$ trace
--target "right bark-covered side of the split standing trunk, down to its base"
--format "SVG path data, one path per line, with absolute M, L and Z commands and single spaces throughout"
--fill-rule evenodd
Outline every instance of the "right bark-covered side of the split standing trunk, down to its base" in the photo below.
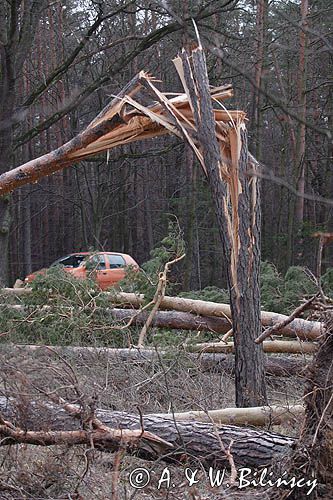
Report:
M 239 180 L 242 194 L 238 203 L 240 248 L 237 284 L 229 278 L 230 306 L 235 339 L 236 406 L 258 406 L 267 402 L 264 355 L 254 339 L 261 332 L 260 321 L 260 190 L 257 179 L 247 175 L 247 134 L 242 131 Z M 222 227 L 220 232 L 223 231 Z M 225 231 L 224 233 L 225 234 Z

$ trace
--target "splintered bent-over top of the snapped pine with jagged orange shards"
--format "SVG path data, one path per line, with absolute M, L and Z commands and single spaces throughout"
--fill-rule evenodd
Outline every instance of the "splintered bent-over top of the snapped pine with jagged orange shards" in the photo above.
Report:
M 180 71 L 179 60 L 176 59 L 174 63 Z M 180 77 L 183 81 L 181 74 Z M 138 73 L 76 137 L 58 149 L 0 175 L 0 196 L 98 153 L 166 134 L 187 139 L 204 167 L 200 146 L 195 138 L 193 104 L 186 86 L 184 93 L 170 94 L 161 92 L 155 83 L 151 75 L 144 71 Z M 139 91 L 151 99 L 148 106 L 135 98 Z M 210 95 L 216 108 L 216 136 L 221 144 L 221 152 L 225 157 L 232 158 L 235 124 L 244 123 L 245 113 L 227 110 L 223 105 L 223 101 L 233 95 L 231 85 L 212 87 Z

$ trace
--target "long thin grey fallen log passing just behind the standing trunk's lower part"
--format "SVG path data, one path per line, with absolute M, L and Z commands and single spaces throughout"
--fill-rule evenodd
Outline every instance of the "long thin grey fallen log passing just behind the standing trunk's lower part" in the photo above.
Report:
M 8 352 L 9 355 L 12 354 L 13 350 L 18 351 L 18 353 L 40 353 L 47 355 L 68 355 L 68 356 L 79 356 L 80 358 L 87 359 L 91 363 L 91 359 L 96 356 L 97 358 L 106 357 L 109 362 L 120 363 L 120 362 L 134 362 L 134 363 L 148 363 L 148 362 L 160 362 L 161 360 L 167 360 L 171 357 L 172 360 L 175 358 L 174 350 L 160 350 L 160 349 L 137 349 L 137 348 L 108 348 L 108 347 L 83 347 L 83 346 L 45 346 L 45 345 L 26 345 L 26 344 L 1 344 L 2 354 Z M 5 351 L 6 350 L 6 351 Z M 179 350 L 177 351 L 180 352 Z M 199 369 L 203 372 L 213 372 L 213 373 L 226 373 L 229 375 L 234 375 L 235 360 L 234 356 L 231 354 L 223 353 L 186 353 L 188 361 L 193 364 L 193 369 Z M 291 377 L 291 376 L 303 376 L 307 368 L 307 363 L 304 360 L 299 360 L 295 358 L 288 357 L 265 357 L 265 371 L 266 375 L 275 377 Z

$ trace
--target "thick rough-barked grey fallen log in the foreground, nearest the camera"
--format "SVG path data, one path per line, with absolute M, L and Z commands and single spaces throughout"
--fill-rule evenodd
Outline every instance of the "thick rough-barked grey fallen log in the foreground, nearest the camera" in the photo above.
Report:
M 20 404 L 15 404 L 12 399 L 0 397 L 0 412 L 2 416 L 15 424 L 15 415 L 19 411 Z M 214 423 L 175 420 L 172 415 L 150 414 L 141 417 L 124 412 L 114 412 L 106 409 L 96 410 L 97 419 L 112 430 L 133 431 L 142 429 L 167 443 L 165 453 L 159 458 L 165 461 L 193 462 L 200 461 L 204 466 L 228 466 L 228 458 L 224 452 L 229 445 L 236 466 L 258 467 L 271 463 L 273 459 L 279 459 L 291 452 L 295 440 L 280 434 L 258 431 L 250 428 L 241 428 L 233 425 L 219 426 Z M 22 422 L 22 416 L 17 415 L 18 421 Z M 22 426 L 22 423 L 21 423 Z M 29 432 L 44 432 L 39 434 L 39 442 L 32 444 L 51 445 L 52 440 L 47 441 L 50 432 L 80 431 L 80 424 L 63 408 L 51 403 L 41 401 L 30 401 L 28 407 L 24 404 L 24 428 Z M 3 435 L 0 445 L 20 442 L 19 436 L 8 439 Z M 59 434 L 57 444 L 61 443 Z M 75 436 L 75 435 L 74 435 Z M 77 437 L 77 436 L 76 436 Z M 81 436 L 82 437 L 82 436 Z M 92 436 L 93 438 L 94 436 Z M 77 437 L 79 439 L 79 437 Z M 66 439 L 64 439 L 66 444 Z M 83 442 L 83 440 L 81 440 Z M 69 444 L 77 444 L 73 441 Z M 166 445 L 164 444 L 166 447 Z M 99 439 L 96 447 L 104 451 L 114 451 L 115 443 L 109 444 L 108 439 Z M 140 443 L 132 451 L 142 458 L 154 457 L 155 450 L 152 448 L 147 457 L 147 442 L 142 449 Z

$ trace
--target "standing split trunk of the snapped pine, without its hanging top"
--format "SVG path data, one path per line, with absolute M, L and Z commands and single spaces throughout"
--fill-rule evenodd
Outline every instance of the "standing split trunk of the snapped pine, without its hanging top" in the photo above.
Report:
M 230 157 L 216 137 L 204 52 L 182 54 L 204 165 L 215 206 L 230 290 L 235 339 L 236 405 L 260 406 L 266 399 L 264 356 L 254 344 L 260 323 L 260 199 L 256 177 L 247 174 L 248 148 L 244 123 L 230 124 Z M 239 150 L 240 148 L 240 150 Z

